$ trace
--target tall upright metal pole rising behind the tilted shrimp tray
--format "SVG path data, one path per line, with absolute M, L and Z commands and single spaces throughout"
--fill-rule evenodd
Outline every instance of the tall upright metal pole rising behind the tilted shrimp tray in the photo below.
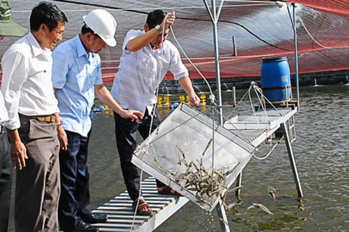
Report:
M 217 105 L 219 110 L 218 122 L 223 123 L 223 110 L 222 106 L 222 93 L 220 88 L 220 68 L 219 68 L 219 49 L 218 49 L 218 28 L 217 28 L 217 14 L 216 14 L 216 1 L 212 0 L 212 17 L 213 17 L 213 42 L 214 42 L 214 62 L 216 68 L 216 83 L 217 83 Z

